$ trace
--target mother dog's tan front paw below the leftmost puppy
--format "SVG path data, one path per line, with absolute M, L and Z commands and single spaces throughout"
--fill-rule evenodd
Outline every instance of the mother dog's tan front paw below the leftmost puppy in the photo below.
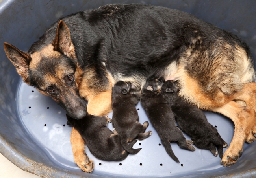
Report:
M 91 173 L 94 168 L 93 160 L 90 160 L 86 153 L 83 155 L 74 155 L 76 159 L 74 159 L 76 165 L 84 172 Z

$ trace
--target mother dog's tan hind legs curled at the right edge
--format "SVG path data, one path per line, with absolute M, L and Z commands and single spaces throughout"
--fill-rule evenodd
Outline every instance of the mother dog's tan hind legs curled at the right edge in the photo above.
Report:
M 256 139 L 252 134 L 255 111 L 239 105 L 235 101 L 230 101 L 224 106 L 211 110 L 229 117 L 235 124 L 233 139 L 221 160 L 221 164 L 224 166 L 232 166 L 242 155 L 244 141 L 247 139 L 249 139 L 247 141 L 254 141 Z

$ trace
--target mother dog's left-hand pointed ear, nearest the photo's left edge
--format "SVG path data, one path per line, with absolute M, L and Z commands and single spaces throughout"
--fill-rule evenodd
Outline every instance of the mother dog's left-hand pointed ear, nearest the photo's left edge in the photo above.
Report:
M 7 57 L 15 66 L 17 73 L 22 77 L 23 81 L 30 85 L 28 79 L 28 66 L 31 61 L 29 53 L 20 51 L 15 46 L 4 42 L 4 51 L 6 52 Z

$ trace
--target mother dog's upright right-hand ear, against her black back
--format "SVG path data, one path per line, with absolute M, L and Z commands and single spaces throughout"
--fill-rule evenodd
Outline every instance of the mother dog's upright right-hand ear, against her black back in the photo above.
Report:
M 71 40 L 69 28 L 62 20 L 59 21 L 52 45 L 54 46 L 54 51 L 62 52 L 67 57 L 76 59 L 75 47 Z

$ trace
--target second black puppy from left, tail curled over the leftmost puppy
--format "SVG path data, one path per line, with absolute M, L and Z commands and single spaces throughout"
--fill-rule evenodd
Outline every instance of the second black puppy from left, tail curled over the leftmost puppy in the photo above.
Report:
M 139 123 L 139 116 L 135 104 L 139 102 L 139 92 L 133 93 L 130 82 L 118 81 L 112 88 L 112 124 L 119 136 L 124 149 L 132 154 L 141 150 L 133 149 L 128 142 L 134 139 L 148 138 L 152 131 L 145 133 L 148 121 Z

